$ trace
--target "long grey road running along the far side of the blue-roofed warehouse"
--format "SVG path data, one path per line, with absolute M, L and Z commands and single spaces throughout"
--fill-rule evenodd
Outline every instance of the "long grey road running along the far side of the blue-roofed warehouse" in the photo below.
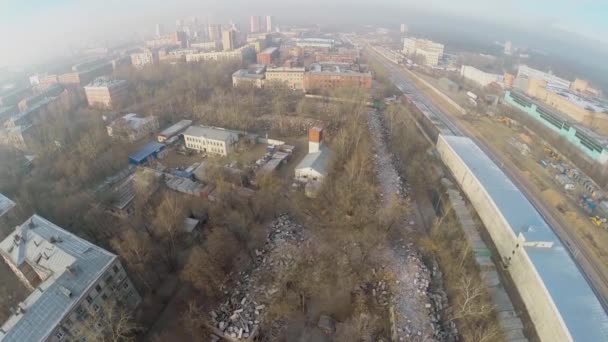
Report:
M 559 220 L 559 214 L 556 209 L 544 203 L 544 201 L 531 191 L 531 189 L 533 189 L 532 184 L 528 179 L 522 177 L 517 170 L 517 167 L 510 160 L 503 158 L 486 139 L 459 124 L 451 118 L 449 114 L 446 114 L 437 108 L 426 95 L 410 81 L 409 77 L 411 76 L 407 75 L 407 71 L 403 70 L 402 66 L 393 64 L 371 48 L 368 48 L 366 51 L 369 52 L 368 55 L 376 59 L 377 62 L 382 64 L 382 66 L 389 71 L 391 81 L 399 90 L 407 94 L 421 111 L 424 112 L 425 110 L 428 110 L 428 113 L 425 113 L 427 117 L 430 116 L 434 123 L 439 121 L 438 127 L 442 133 L 471 138 L 488 157 L 503 170 L 567 247 L 571 256 L 576 261 L 579 270 L 581 270 L 581 273 L 585 276 L 587 282 L 591 285 L 596 296 L 602 303 L 604 310 L 608 311 L 608 277 L 598 266 L 598 261 L 594 259 L 585 248 L 579 245 L 573 233 Z

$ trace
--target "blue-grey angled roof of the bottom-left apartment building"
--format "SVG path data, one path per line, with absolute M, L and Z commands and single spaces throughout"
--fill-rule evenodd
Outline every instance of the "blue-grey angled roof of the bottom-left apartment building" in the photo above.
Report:
M 0 341 L 46 340 L 116 255 L 34 215 L 0 242 L 34 291 L 0 328 Z

